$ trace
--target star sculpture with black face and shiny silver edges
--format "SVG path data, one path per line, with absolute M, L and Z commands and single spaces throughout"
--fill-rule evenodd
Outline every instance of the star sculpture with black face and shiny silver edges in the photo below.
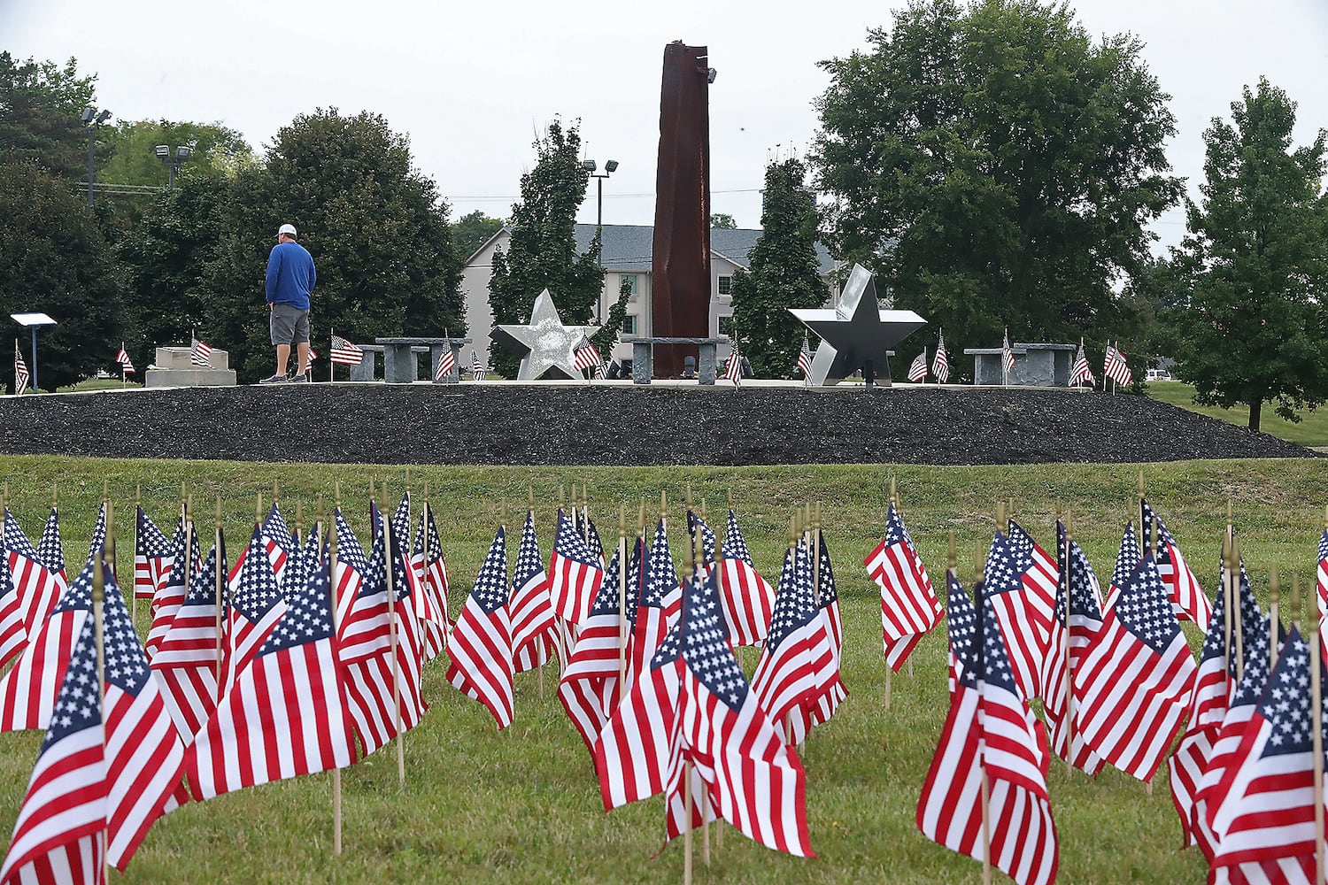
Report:
M 882 310 L 871 271 L 861 264 L 853 265 L 833 310 L 789 308 L 789 313 L 821 336 L 811 357 L 811 385 L 817 387 L 839 383 L 858 369 L 869 387 L 876 378 L 888 385 L 887 352 L 927 325 L 912 310 Z

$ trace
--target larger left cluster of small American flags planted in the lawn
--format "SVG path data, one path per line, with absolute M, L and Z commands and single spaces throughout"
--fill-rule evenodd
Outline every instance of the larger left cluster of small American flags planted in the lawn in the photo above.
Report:
M 606 791 L 622 782 L 615 766 L 640 762 L 615 762 L 603 738 L 637 719 L 622 705 L 689 723 L 681 738 L 641 736 L 653 743 L 640 750 L 692 763 L 693 824 L 722 816 L 762 844 L 810 854 L 794 746 L 846 695 L 829 551 L 819 529 L 801 535 L 776 590 L 752 565 L 732 511 L 722 547 L 703 517 L 688 517 L 696 559 L 684 580 L 663 517 L 653 540 L 639 537 L 629 557 L 624 545 L 606 563 L 588 513 L 560 510 L 546 567 L 527 513 L 513 579 L 499 528 L 453 622 L 432 513 L 426 504 L 412 544 L 409 495 L 390 517 L 371 504 L 368 555 L 340 510 L 301 539 L 274 504 L 234 563 L 220 527 L 206 532 L 205 556 L 187 510 L 167 536 L 139 508 L 127 600 L 102 564 L 105 506 L 73 581 L 57 511 L 37 545 L 7 511 L 0 670 L 12 666 L 0 677 L 0 730 L 48 734 L 0 881 L 124 869 L 151 823 L 183 803 L 353 764 L 422 719 L 422 667 L 442 651 L 448 681 L 499 727 L 513 718 L 513 674 L 564 661 L 559 698 L 602 758 Z M 150 602 L 146 644 L 127 605 L 138 600 Z M 762 661 L 749 685 L 733 647 L 754 644 Z M 98 645 L 104 707 L 86 690 L 100 677 Z M 121 702 L 114 679 L 133 698 Z M 663 694 L 647 697 L 647 682 Z M 66 715 L 72 705 L 76 716 Z M 151 740 L 126 739 L 135 727 Z M 121 759 L 126 752 L 134 755 Z M 78 784 L 50 782 L 49 772 L 82 759 L 89 767 Z M 672 801 L 683 788 L 676 774 L 672 764 L 655 772 L 656 792 L 671 795 L 671 832 L 685 825 Z

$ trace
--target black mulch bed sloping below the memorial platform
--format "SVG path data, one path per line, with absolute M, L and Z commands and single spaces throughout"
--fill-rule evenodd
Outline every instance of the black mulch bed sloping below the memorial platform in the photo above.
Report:
M 0 399 L 0 451 L 420 464 L 1304 458 L 1143 397 L 1046 390 L 299 385 Z

